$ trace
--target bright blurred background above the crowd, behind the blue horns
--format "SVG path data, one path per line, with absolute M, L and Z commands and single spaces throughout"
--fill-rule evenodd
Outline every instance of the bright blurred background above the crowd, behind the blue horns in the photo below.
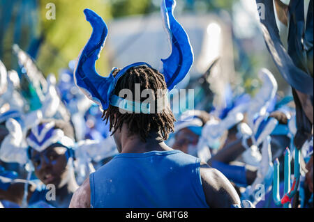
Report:
M 0 0 L 0 60 L 21 77 L 25 70 L 13 53 L 18 45 L 45 77 L 73 70 L 75 59 L 91 34 L 84 8 L 103 17 L 109 35 L 98 72 L 145 61 L 156 68 L 167 58 L 170 45 L 160 18 L 160 0 Z M 55 17 L 52 17 L 55 12 Z M 252 0 L 177 0 L 174 16 L 186 29 L 195 63 L 178 88 L 195 88 L 209 103 L 195 108 L 210 111 L 211 103 L 226 106 L 227 98 L 260 88 L 257 73 L 268 68 L 278 81 L 278 95 L 289 88 L 278 73 L 260 33 L 257 6 Z M 204 81 L 208 88 L 204 91 Z M 197 90 L 197 88 L 201 88 Z M 201 92 L 201 91 L 204 92 Z M 199 94 L 197 94 L 199 93 Z M 204 107 L 208 106 L 208 107 Z

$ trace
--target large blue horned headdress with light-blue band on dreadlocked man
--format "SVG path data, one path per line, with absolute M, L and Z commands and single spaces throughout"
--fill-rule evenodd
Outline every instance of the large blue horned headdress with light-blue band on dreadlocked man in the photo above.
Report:
M 174 86 L 186 77 L 193 64 L 193 49 L 188 35 L 173 15 L 175 5 L 176 2 L 174 0 L 163 0 L 160 6 L 165 30 L 169 35 L 172 47 L 171 55 L 161 60 L 163 62 L 163 70 L 160 70 L 165 77 L 168 90 L 172 90 Z M 103 110 L 106 110 L 109 105 L 131 112 L 138 111 L 136 111 L 135 107 L 147 107 L 146 111 L 143 112 L 143 108 L 141 108 L 140 112 L 149 113 L 149 104 L 142 106 L 143 103 L 125 100 L 117 95 L 113 95 L 113 91 L 119 78 L 130 68 L 140 65 L 147 65 L 149 68 L 151 66 L 144 62 L 133 63 L 119 71 L 115 77 L 112 72 L 108 77 L 100 76 L 96 71 L 95 64 L 101 49 L 105 45 L 108 29 L 103 19 L 94 11 L 85 9 L 84 14 L 93 27 L 93 33 L 91 33 L 91 38 L 89 38 L 87 45 L 85 45 L 78 57 L 74 72 L 75 84 L 87 95 L 89 100 L 96 102 Z

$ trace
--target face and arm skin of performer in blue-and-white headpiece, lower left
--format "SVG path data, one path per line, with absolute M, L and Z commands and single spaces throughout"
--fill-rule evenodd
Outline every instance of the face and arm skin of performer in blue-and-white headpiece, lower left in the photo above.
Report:
M 54 184 L 56 187 L 56 200 L 51 201 L 51 204 L 56 207 L 68 207 L 78 187 L 74 172 L 69 171 L 65 153 L 66 148 L 58 144 L 51 145 L 43 152 L 31 150 L 31 161 L 35 167 L 36 177 L 44 184 Z M 21 205 L 26 182 L 26 180 L 13 180 L 7 191 L 0 189 L 0 199 Z M 29 183 L 28 189 L 27 200 L 30 200 L 33 191 L 36 190 L 36 184 Z

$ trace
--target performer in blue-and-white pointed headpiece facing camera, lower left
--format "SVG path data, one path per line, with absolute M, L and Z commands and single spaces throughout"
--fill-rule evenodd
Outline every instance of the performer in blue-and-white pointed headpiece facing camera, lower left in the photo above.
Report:
M 73 127 L 63 120 L 42 120 L 29 129 L 28 148 L 20 148 L 20 157 L 27 154 L 40 182 L 20 179 L 8 181 L 6 189 L 0 189 L 0 199 L 10 200 L 22 207 L 68 207 L 78 187 L 72 166 L 73 137 Z M 14 150 L 11 152 L 14 153 Z M 53 186 L 56 194 L 54 198 L 50 199 L 46 195 L 50 191 L 46 186 Z M 27 201 L 27 205 L 23 200 Z

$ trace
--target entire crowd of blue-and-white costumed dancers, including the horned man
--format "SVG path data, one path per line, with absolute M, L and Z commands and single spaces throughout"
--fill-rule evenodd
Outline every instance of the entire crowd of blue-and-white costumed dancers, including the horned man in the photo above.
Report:
M 0 61 L 0 207 L 313 207 L 313 1 L 307 13 L 304 2 L 257 0 L 291 96 L 261 68 L 255 96 L 177 120 L 167 92 L 188 74 L 193 49 L 173 0 L 160 7 L 172 53 L 159 71 L 134 63 L 98 74 L 108 31 L 89 9 L 91 38 L 58 81 L 15 45 L 22 74 Z M 287 51 L 275 10 L 289 25 Z M 154 99 L 137 100 L 136 85 Z

